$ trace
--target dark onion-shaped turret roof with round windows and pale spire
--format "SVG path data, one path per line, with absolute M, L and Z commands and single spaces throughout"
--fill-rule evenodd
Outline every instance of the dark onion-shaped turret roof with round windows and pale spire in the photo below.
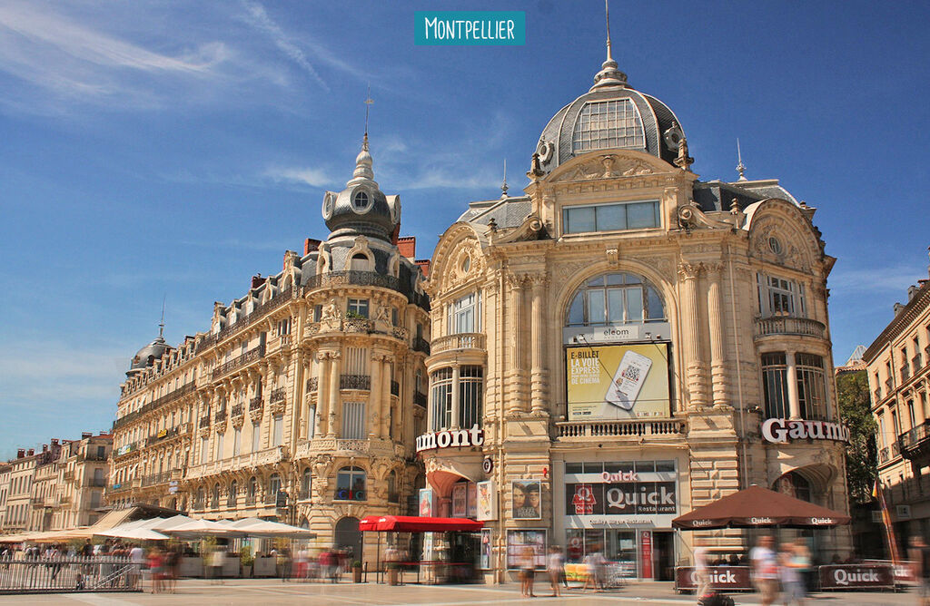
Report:
M 394 226 L 400 221 L 400 203 L 397 196 L 391 196 L 389 201 L 379 190 L 372 164 L 366 134 L 346 189 L 324 194 L 323 218 L 330 231 L 330 240 L 338 236 L 365 235 L 391 241 Z

